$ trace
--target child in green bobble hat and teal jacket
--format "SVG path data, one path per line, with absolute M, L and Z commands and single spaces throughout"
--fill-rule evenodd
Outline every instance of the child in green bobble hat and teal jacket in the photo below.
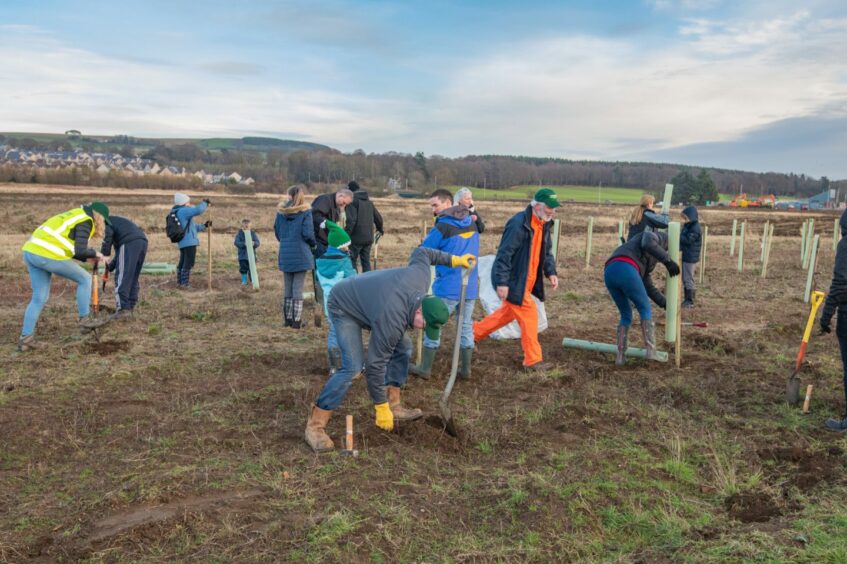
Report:
M 353 261 L 348 254 L 350 248 L 350 235 L 337 223 L 326 220 L 321 223 L 321 229 L 327 232 L 327 249 L 324 254 L 315 261 L 315 272 L 317 273 L 318 283 L 321 285 L 324 297 L 324 314 L 329 322 L 329 332 L 326 338 L 327 358 L 329 359 L 329 373 L 335 374 L 341 369 L 341 349 L 338 347 L 338 337 L 335 334 L 335 327 L 332 325 L 332 318 L 329 316 L 327 303 L 329 303 L 329 294 L 332 292 L 336 284 L 356 276 L 356 269 L 353 267 Z

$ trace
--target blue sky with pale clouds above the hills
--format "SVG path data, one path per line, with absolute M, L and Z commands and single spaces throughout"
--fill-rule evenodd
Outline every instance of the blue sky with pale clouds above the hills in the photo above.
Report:
M 2 0 L 0 130 L 847 178 L 847 1 Z

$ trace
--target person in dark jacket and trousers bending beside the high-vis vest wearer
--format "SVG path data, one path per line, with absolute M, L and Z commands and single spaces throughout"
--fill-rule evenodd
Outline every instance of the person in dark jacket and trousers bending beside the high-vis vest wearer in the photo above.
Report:
M 109 272 L 115 273 L 115 313 L 112 319 L 130 319 L 138 303 L 138 277 L 147 256 L 147 236 L 135 223 L 125 217 L 112 215 L 106 226 L 103 246 L 104 256 L 115 256 L 109 261 Z

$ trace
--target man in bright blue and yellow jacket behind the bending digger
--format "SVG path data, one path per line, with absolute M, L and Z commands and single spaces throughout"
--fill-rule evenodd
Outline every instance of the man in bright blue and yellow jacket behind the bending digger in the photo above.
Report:
M 462 204 L 454 206 L 452 194 L 443 188 L 432 193 L 429 203 L 436 215 L 435 227 L 430 230 L 421 246 L 444 251 L 451 255 L 470 253 L 479 256 L 479 227 L 468 207 Z M 432 293 L 441 298 L 451 314 L 455 311 L 457 316 L 459 297 L 462 291 L 462 270 L 461 267 L 436 266 L 435 282 L 432 284 Z M 479 295 L 479 276 L 476 266 L 471 270 L 469 276 L 460 321 L 462 337 L 459 377 L 464 380 L 470 378 L 471 360 L 473 358 L 473 309 Z M 432 372 L 432 363 L 435 360 L 435 351 L 440 346 L 440 338 L 430 339 L 425 337 L 421 363 L 417 366 L 410 366 L 409 372 L 420 378 L 429 378 Z

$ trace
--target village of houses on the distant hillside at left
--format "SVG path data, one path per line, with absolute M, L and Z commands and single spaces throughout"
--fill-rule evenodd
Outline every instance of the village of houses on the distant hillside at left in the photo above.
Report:
M 243 178 L 237 172 L 210 174 L 204 170 L 191 172 L 184 167 L 160 166 L 152 159 L 124 157 L 119 153 L 89 153 L 74 151 L 24 151 L 8 145 L 0 145 L 0 165 L 29 166 L 39 172 L 48 169 L 88 168 L 101 176 L 118 174 L 126 176 L 195 177 L 203 184 L 241 184 L 252 186 L 255 181 Z

